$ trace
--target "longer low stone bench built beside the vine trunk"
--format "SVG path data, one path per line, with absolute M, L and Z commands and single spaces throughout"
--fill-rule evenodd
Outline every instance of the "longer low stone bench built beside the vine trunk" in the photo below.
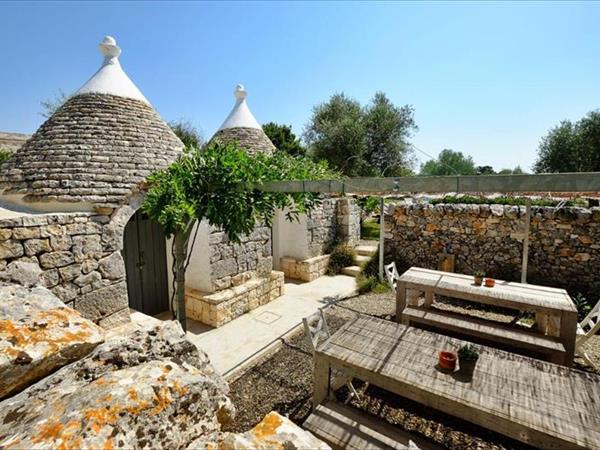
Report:
M 220 327 L 283 294 L 283 272 L 272 271 L 267 276 L 242 275 L 241 283 L 215 293 L 185 290 L 186 316 L 213 327 Z

